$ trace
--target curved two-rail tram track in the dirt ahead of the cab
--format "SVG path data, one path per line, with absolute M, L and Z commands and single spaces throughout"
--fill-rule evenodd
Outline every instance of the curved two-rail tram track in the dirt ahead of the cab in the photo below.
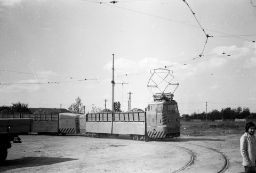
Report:
M 179 146 L 170 143 L 165 144 L 185 150 L 190 155 L 190 161 L 173 173 L 202 171 L 223 173 L 228 168 L 228 158 L 216 149 L 192 143 L 179 143 Z

